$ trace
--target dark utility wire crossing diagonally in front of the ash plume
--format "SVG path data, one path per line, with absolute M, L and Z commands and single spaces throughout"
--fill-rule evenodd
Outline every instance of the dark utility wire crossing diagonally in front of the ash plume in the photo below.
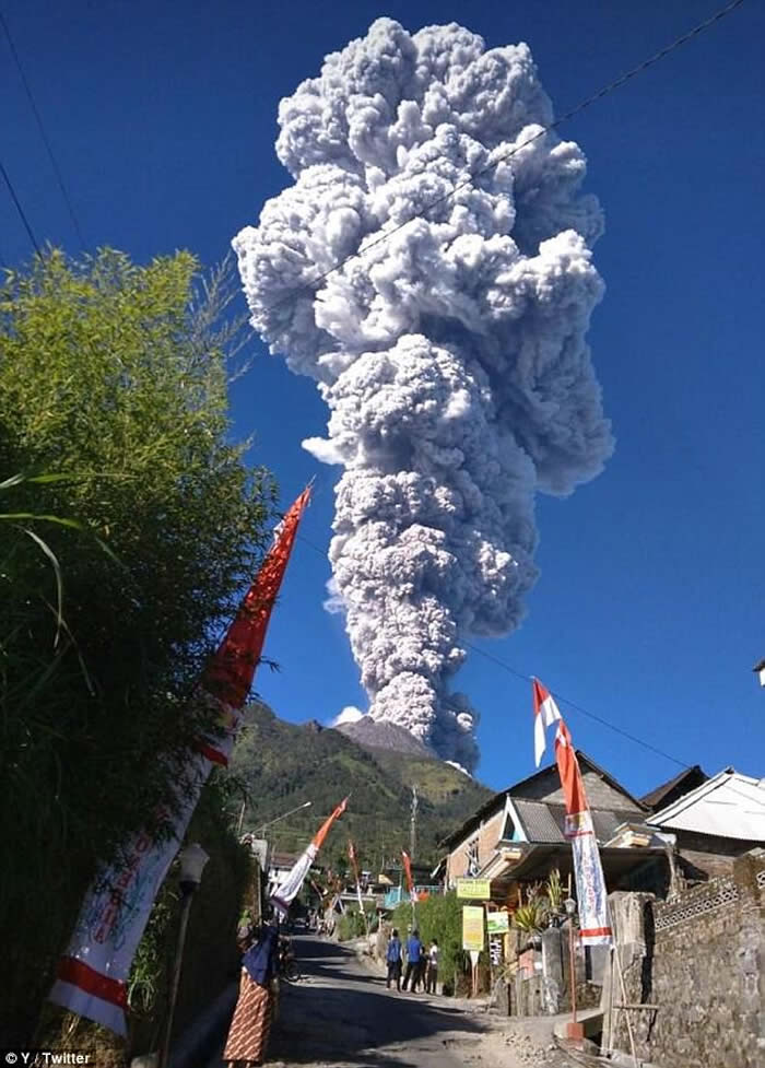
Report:
M 404 226 L 409 226 L 409 224 L 414 222 L 416 219 L 422 219 L 433 208 L 437 208 L 440 204 L 445 203 L 447 200 L 450 200 L 455 196 L 455 193 L 459 192 L 460 189 L 464 189 L 469 186 L 472 186 L 476 178 L 480 178 L 483 175 L 489 174 L 491 171 L 494 171 L 494 168 L 499 163 L 505 163 L 511 156 L 520 152 L 521 149 L 527 148 L 527 145 L 529 144 L 533 144 L 534 141 L 538 141 L 540 138 L 544 137 L 546 133 L 550 133 L 552 130 L 556 130 L 564 122 L 567 122 L 569 119 L 574 118 L 574 116 L 579 115 L 580 112 L 584 112 L 586 108 L 590 107 L 597 101 L 600 101 L 604 96 L 608 96 L 610 93 L 613 93 L 614 90 L 621 89 L 622 85 L 626 84 L 626 82 L 631 81 L 633 78 L 636 78 L 637 74 L 642 74 L 643 71 L 648 70 L 649 67 L 652 67 L 655 63 L 658 63 L 660 60 L 664 59 L 664 57 L 669 56 L 670 52 L 673 52 L 675 49 L 682 47 L 682 45 L 687 44 L 688 40 L 692 40 L 694 37 L 697 37 L 706 30 L 709 30 L 721 19 L 725 19 L 726 15 L 729 15 L 737 8 L 740 8 L 744 0 L 731 0 L 731 3 L 727 4 L 725 8 L 720 8 L 719 11 L 716 11 L 704 22 L 699 22 L 696 26 L 693 27 L 693 30 L 688 30 L 687 33 L 684 33 L 680 37 L 676 37 L 673 42 L 671 42 L 671 44 L 666 45 L 663 48 L 655 52 L 648 59 L 645 59 L 642 63 L 638 63 L 637 67 L 633 67 L 631 70 L 626 71 L 625 73 L 620 74 L 619 78 L 615 78 L 612 82 L 609 82 L 608 85 L 604 85 L 602 89 L 598 90 L 597 93 L 592 93 L 591 96 L 588 96 L 586 99 L 581 101 L 575 107 L 570 108 L 568 112 L 562 115 L 561 118 L 555 119 L 555 121 L 551 122 L 550 126 L 541 127 L 537 133 L 532 134 L 526 141 L 522 141 L 520 144 L 516 144 L 513 149 L 508 149 L 507 152 L 502 152 L 495 155 L 494 159 L 491 161 L 491 163 L 486 164 L 486 166 L 484 167 L 480 167 L 478 171 L 474 171 L 468 178 L 463 178 L 461 181 L 458 181 L 457 185 L 455 185 L 449 192 L 446 192 L 443 196 L 437 197 L 435 200 L 432 200 L 429 203 L 425 204 L 424 208 L 422 208 L 415 214 L 411 215 L 409 219 L 404 220 L 402 223 L 398 223 L 396 226 L 392 226 L 390 230 L 387 230 L 378 237 L 375 237 L 370 242 L 367 242 L 367 244 L 363 245 L 357 251 L 350 253 L 348 256 L 339 260 L 332 267 L 328 268 L 326 271 L 322 271 L 321 274 L 317 274 L 317 277 L 311 279 L 310 281 L 304 282 L 302 285 L 298 285 L 294 290 L 291 290 L 290 293 L 286 293 L 278 301 L 274 301 L 273 304 L 269 304 L 267 307 L 264 307 L 263 312 L 266 313 L 273 312 L 276 308 L 281 307 L 283 304 L 293 301 L 296 296 L 299 296 L 301 293 L 304 293 L 306 291 L 315 292 L 316 286 L 320 282 L 323 282 L 323 280 L 329 278 L 330 274 L 334 274 L 336 271 L 341 270 L 341 268 L 343 268 L 351 260 L 358 259 L 365 253 L 368 253 L 370 248 L 374 248 L 376 245 L 382 244 L 382 242 L 389 240 L 393 236 L 393 234 L 398 234 L 398 232 L 400 230 L 403 230 Z

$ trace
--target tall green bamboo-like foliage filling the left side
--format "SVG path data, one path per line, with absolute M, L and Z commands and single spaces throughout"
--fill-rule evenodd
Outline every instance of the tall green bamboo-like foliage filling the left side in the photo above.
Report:
M 271 480 L 229 438 L 220 287 L 198 283 L 188 253 L 104 250 L 0 285 L 8 1041 L 28 1036 L 97 862 L 166 830 L 167 768 L 204 726 L 188 697 L 267 537 Z

